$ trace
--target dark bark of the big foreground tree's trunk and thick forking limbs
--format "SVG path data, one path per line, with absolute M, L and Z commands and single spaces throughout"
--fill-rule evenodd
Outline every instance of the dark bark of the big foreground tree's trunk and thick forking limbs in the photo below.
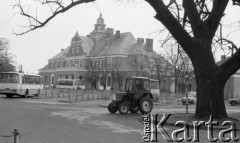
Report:
M 190 35 L 184 26 L 169 11 L 162 0 L 146 0 L 156 11 L 159 20 L 189 55 L 195 70 L 197 83 L 197 106 L 199 118 L 227 118 L 224 104 L 224 86 L 227 79 L 240 68 L 240 51 L 218 66 L 212 54 L 212 40 L 224 15 L 228 0 L 214 0 L 212 11 L 201 19 L 200 10 L 193 0 L 183 0 L 185 19 L 193 32 Z M 204 4 L 205 1 L 198 1 Z M 172 1 L 175 3 L 175 1 Z

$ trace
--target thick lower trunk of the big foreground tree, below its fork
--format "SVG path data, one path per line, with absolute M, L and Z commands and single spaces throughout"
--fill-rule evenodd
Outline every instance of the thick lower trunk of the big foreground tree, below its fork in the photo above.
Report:
M 224 86 L 226 81 L 218 70 L 208 72 L 195 71 L 197 82 L 197 106 L 195 115 L 198 118 L 227 118 L 224 103 Z

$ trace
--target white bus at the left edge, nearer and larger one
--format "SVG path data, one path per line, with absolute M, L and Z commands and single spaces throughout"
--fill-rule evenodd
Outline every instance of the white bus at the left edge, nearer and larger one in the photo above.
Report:
M 0 72 L 0 94 L 5 94 L 8 98 L 38 96 L 41 89 L 43 84 L 40 75 Z

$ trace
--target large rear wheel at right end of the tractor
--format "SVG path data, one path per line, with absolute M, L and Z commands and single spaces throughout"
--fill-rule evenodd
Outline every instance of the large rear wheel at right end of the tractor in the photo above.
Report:
M 139 110 L 142 114 L 148 114 L 153 109 L 153 103 L 151 98 L 145 97 L 139 103 Z

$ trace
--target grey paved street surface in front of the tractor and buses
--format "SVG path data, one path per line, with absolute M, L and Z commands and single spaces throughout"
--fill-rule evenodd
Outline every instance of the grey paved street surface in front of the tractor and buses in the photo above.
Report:
M 13 129 L 19 129 L 22 143 L 143 142 L 142 114 L 110 114 L 105 106 L 99 106 L 105 102 L 48 102 L 44 99 L 5 98 L 1 95 L 0 143 L 13 143 Z M 184 113 L 184 106 L 181 105 L 156 107 L 154 114 Z M 193 112 L 192 106 L 190 108 L 190 112 Z M 164 128 L 167 131 L 175 129 L 170 126 Z M 158 134 L 158 142 L 167 141 Z M 200 142 L 208 142 L 206 130 L 200 131 Z

